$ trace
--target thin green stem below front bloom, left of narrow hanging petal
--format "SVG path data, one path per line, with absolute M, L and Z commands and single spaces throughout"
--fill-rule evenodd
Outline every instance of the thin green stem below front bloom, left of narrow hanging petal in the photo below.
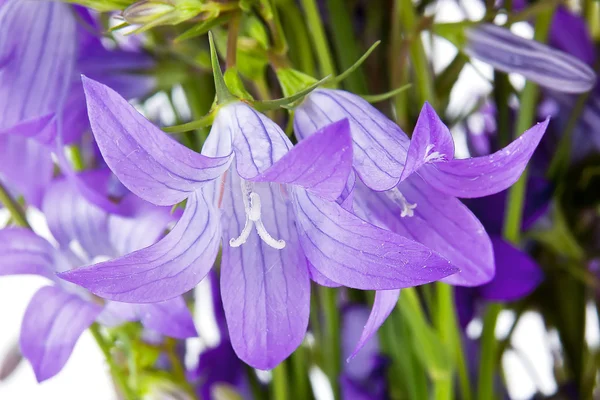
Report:
M 319 294 L 321 295 L 322 307 L 327 325 L 324 340 L 326 346 L 324 348 L 324 363 L 335 398 L 339 399 L 340 391 L 338 377 L 340 375 L 342 355 L 338 340 L 340 338 L 340 310 L 337 304 L 337 291 L 334 288 L 320 286 Z

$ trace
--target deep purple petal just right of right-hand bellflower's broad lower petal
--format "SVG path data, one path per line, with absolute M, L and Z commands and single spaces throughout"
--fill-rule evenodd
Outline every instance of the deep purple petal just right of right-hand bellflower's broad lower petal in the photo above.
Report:
M 499 237 L 492 239 L 496 276 L 479 287 L 481 297 L 490 301 L 514 301 L 531 293 L 544 279 L 536 262 L 525 252 Z

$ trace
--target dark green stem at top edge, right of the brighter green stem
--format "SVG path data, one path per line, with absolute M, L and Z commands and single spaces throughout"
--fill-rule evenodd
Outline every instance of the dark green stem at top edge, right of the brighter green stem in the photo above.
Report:
M 360 57 L 360 50 L 354 38 L 352 20 L 346 0 L 328 0 L 332 40 L 340 71 L 350 68 Z M 360 67 L 348 76 L 344 86 L 354 93 L 367 93 L 367 80 Z

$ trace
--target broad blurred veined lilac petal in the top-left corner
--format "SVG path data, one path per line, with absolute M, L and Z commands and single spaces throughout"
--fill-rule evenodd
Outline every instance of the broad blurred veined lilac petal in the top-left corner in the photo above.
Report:
M 9 0 L 0 9 L 0 131 L 60 110 L 76 57 L 76 26 L 70 7 L 53 2 Z M 39 128 L 39 126 L 38 126 Z

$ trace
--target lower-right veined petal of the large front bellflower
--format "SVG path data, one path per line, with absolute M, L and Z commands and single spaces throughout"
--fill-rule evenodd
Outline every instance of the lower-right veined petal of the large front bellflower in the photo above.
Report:
M 458 271 L 427 247 L 378 228 L 302 189 L 293 191 L 296 225 L 306 257 L 344 286 L 400 289 Z

